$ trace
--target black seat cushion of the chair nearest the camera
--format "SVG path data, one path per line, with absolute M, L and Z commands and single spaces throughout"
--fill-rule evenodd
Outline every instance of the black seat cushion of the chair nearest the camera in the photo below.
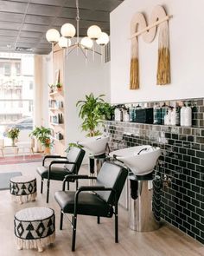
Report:
M 55 193 L 54 198 L 64 213 L 73 213 L 74 196 L 74 191 L 58 191 Z M 77 213 L 111 218 L 113 209 L 98 195 L 82 192 L 78 198 Z

